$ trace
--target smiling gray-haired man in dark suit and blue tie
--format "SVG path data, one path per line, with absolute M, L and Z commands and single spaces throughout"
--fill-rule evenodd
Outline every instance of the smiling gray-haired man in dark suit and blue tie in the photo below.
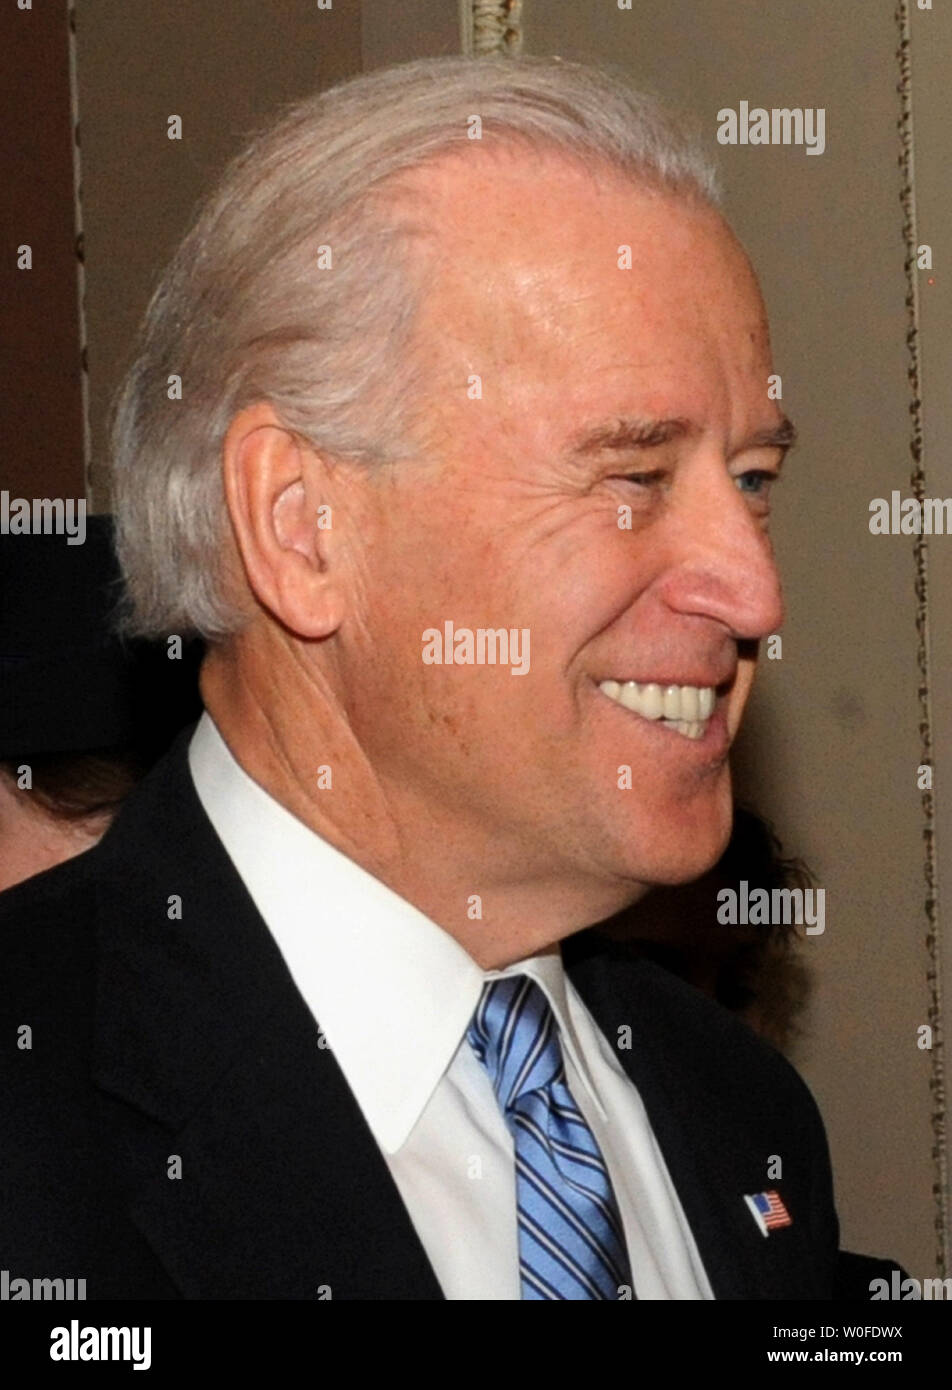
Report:
M 727 841 L 770 371 L 709 171 L 603 74 L 416 63 L 228 172 L 114 434 L 133 621 L 210 639 L 207 714 L 3 903 L 6 1268 L 831 1295 L 803 1084 L 575 935 Z

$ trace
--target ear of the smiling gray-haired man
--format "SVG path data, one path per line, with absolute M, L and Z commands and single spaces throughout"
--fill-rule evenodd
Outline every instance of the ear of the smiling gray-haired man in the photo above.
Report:
M 240 410 L 224 442 L 225 500 L 249 587 L 299 637 L 328 637 L 343 617 L 334 531 L 318 525 L 329 474 L 268 402 Z

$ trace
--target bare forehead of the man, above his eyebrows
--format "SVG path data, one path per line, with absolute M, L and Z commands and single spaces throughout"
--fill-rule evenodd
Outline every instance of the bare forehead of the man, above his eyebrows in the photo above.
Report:
M 648 388 L 769 370 L 756 279 L 714 208 L 525 150 L 474 147 L 403 182 L 432 232 L 424 343 L 453 370 Z

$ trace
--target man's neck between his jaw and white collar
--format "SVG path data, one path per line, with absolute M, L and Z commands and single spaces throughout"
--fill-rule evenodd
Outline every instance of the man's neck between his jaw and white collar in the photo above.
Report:
M 485 830 L 392 787 L 366 756 L 334 681 L 300 659 L 277 662 L 243 635 L 202 669 L 206 709 L 232 756 L 310 830 L 441 926 L 482 969 L 557 949 L 567 935 L 631 902 L 568 869 L 507 869 Z M 281 701 L 274 699 L 281 671 Z M 321 774 L 321 769 L 329 770 Z M 321 785 L 321 780 L 324 785 Z

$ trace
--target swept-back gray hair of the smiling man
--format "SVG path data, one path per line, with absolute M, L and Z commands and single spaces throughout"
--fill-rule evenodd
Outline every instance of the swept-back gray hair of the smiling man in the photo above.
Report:
M 413 455 L 425 292 L 420 228 L 382 181 L 438 154 L 506 143 L 599 160 L 716 204 L 695 139 L 621 75 L 561 58 L 424 58 L 292 106 L 227 168 L 149 303 L 111 416 L 128 631 L 217 639 L 225 592 L 221 449 L 268 400 L 332 457 Z M 331 247 L 332 270 L 317 268 Z M 327 257 L 327 252 L 324 252 Z M 170 377 L 182 382 L 170 399 Z

